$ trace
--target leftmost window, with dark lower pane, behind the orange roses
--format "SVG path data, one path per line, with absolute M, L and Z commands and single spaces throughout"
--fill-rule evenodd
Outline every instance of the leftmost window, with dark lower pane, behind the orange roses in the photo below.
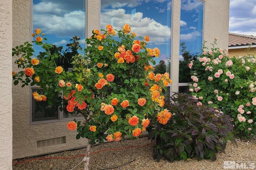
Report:
M 56 61 L 64 69 L 72 70 L 71 58 L 78 53 L 72 46 L 74 39 L 80 40 L 82 49 L 85 47 L 86 34 L 86 0 L 56 1 L 56 0 L 32 0 L 32 29 L 40 28 L 48 39 L 48 43 L 54 45 L 50 51 L 62 55 L 62 59 Z M 43 53 L 41 47 L 34 45 L 34 55 Z M 31 122 L 49 122 L 72 117 L 80 117 L 81 114 L 71 115 L 65 110 L 60 111 L 58 105 L 53 102 L 37 102 L 32 97 L 32 92 L 38 91 L 32 87 L 31 94 Z M 42 89 L 41 89 L 42 90 Z M 55 101 L 60 102 L 60 101 Z

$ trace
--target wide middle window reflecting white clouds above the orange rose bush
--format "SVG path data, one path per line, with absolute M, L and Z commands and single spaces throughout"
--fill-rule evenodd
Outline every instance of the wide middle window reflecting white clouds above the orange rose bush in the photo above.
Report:
M 100 27 L 105 29 L 107 24 L 111 24 L 120 30 L 128 23 L 137 37 L 149 36 L 147 47 L 160 49 L 160 56 L 154 58 L 156 64 L 152 64 L 154 72 L 170 72 L 171 14 L 172 0 L 119 0 L 115 3 L 101 0 Z M 166 96 L 169 96 L 170 87 L 167 91 Z

